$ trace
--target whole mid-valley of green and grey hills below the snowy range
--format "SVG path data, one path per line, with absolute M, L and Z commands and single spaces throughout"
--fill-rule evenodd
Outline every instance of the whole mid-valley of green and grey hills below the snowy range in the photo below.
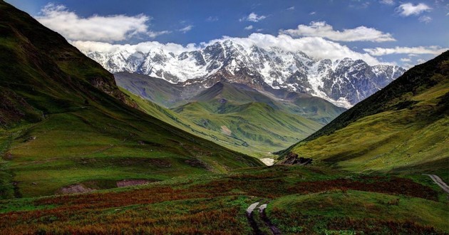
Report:
M 254 157 L 273 157 L 270 152 L 304 139 L 345 110 L 311 95 L 280 99 L 227 81 L 192 92 L 145 75 L 118 73 L 115 79 L 149 115 Z

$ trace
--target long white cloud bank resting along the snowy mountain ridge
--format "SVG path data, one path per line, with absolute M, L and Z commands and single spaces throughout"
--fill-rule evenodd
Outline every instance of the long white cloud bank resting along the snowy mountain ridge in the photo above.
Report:
M 307 55 L 317 58 L 324 59 L 329 58 L 331 60 L 341 59 L 341 58 L 353 58 L 361 59 L 366 61 L 370 65 L 376 65 L 379 62 L 373 56 L 368 53 L 358 53 L 352 51 L 347 46 L 341 45 L 339 43 L 328 41 L 324 38 L 318 37 L 304 37 L 304 38 L 291 38 L 291 36 L 281 34 L 279 36 L 273 36 L 270 34 L 263 33 L 252 33 L 247 38 L 230 38 L 223 37 L 220 39 L 215 39 L 207 43 L 200 43 L 200 45 L 195 45 L 193 43 L 187 46 L 182 46 L 176 43 L 159 43 L 157 41 L 148 41 L 145 43 L 138 43 L 135 45 L 118 45 L 110 43 L 99 43 L 93 41 L 72 41 L 73 46 L 76 46 L 81 51 L 102 51 L 102 52 L 113 52 L 118 50 L 126 50 L 130 53 L 140 51 L 143 53 L 148 53 L 148 51 L 153 49 L 162 49 L 167 52 L 172 52 L 179 54 L 183 51 L 194 51 L 205 46 L 209 46 L 212 43 L 222 42 L 225 40 L 232 40 L 235 43 L 239 43 L 245 48 L 250 48 L 251 46 L 259 46 L 261 48 L 272 48 L 278 47 L 285 51 L 302 51 Z

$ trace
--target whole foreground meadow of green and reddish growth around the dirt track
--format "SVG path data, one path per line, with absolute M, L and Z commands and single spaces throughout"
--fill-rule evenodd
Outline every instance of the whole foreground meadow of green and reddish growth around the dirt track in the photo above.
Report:
M 239 169 L 91 194 L 0 201 L 0 231 L 251 234 L 245 209 L 269 202 L 269 219 L 283 234 L 449 232 L 448 199 L 433 186 L 321 167 Z

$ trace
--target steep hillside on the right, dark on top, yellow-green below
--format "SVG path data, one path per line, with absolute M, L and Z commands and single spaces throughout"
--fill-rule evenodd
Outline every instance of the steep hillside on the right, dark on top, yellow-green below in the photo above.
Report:
M 449 168 L 449 51 L 411 68 L 318 132 L 290 147 L 301 157 L 363 171 Z

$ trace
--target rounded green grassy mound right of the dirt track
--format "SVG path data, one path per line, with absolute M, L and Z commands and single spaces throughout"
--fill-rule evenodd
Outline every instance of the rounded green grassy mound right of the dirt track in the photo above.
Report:
M 345 192 L 330 191 L 308 195 L 289 195 L 275 199 L 267 209 L 274 224 L 285 234 L 303 233 L 334 233 L 344 230 L 349 234 L 359 234 L 370 231 L 369 227 L 358 227 L 358 223 L 367 223 L 381 234 L 392 233 L 387 222 L 406 224 L 413 222 L 418 226 L 432 224 L 438 231 L 449 231 L 448 205 L 425 199 L 393 196 L 373 192 L 348 190 Z M 347 224 L 341 224 L 335 229 L 335 222 L 345 219 Z M 386 224 L 383 224 L 385 222 Z M 376 224 L 378 227 L 376 227 Z M 401 234 L 406 234 L 406 226 Z M 401 227 L 399 225 L 398 227 Z M 401 231 L 401 229 L 398 229 Z M 419 234 L 409 230 L 413 234 Z

